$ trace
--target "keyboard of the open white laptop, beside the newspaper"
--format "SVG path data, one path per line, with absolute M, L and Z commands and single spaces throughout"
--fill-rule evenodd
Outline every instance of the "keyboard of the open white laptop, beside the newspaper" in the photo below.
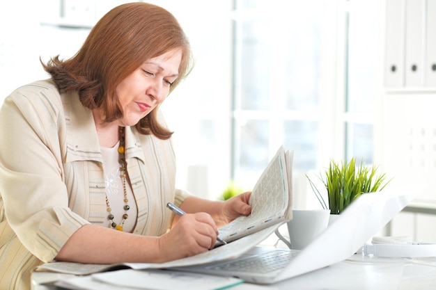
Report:
M 297 251 L 276 250 L 265 252 L 247 259 L 236 259 L 224 264 L 207 267 L 211 270 L 238 272 L 272 272 L 284 268 L 298 254 Z

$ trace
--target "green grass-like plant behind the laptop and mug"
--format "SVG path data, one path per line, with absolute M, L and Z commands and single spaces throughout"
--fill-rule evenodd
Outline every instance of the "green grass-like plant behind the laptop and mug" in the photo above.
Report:
M 330 209 L 330 214 L 341 214 L 359 195 L 381 191 L 390 182 L 385 182 L 385 173 L 377 175 L 377 169 L 377 166 L 365 166 L 364 161 L 356 166 L 355 157 L 348 163 L 330 161 L 325 177 L 319 176 L 327 190 L 328 206 L 316 185 L 307 175 L 306 177 L 322 208 Z

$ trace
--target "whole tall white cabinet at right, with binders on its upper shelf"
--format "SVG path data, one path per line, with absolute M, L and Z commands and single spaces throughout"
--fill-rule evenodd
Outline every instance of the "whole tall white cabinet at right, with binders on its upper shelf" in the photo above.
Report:
M 436 243 L 436 0 L 384 4 L 382 167 L 389 186 L 426 184 L 389 234 Z

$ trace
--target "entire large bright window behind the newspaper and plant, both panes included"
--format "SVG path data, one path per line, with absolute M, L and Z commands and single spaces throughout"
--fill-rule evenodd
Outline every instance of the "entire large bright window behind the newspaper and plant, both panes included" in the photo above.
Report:
M 373 162 L 378 6 L 235 0 L 235 180 L 254 184 L 281 144 L 297 172 Z

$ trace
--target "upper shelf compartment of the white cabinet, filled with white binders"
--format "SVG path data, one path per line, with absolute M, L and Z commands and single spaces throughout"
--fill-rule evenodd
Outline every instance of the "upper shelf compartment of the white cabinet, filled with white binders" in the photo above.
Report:
M 385 0 L 384 85 L 436 88 L 436 0 Z

